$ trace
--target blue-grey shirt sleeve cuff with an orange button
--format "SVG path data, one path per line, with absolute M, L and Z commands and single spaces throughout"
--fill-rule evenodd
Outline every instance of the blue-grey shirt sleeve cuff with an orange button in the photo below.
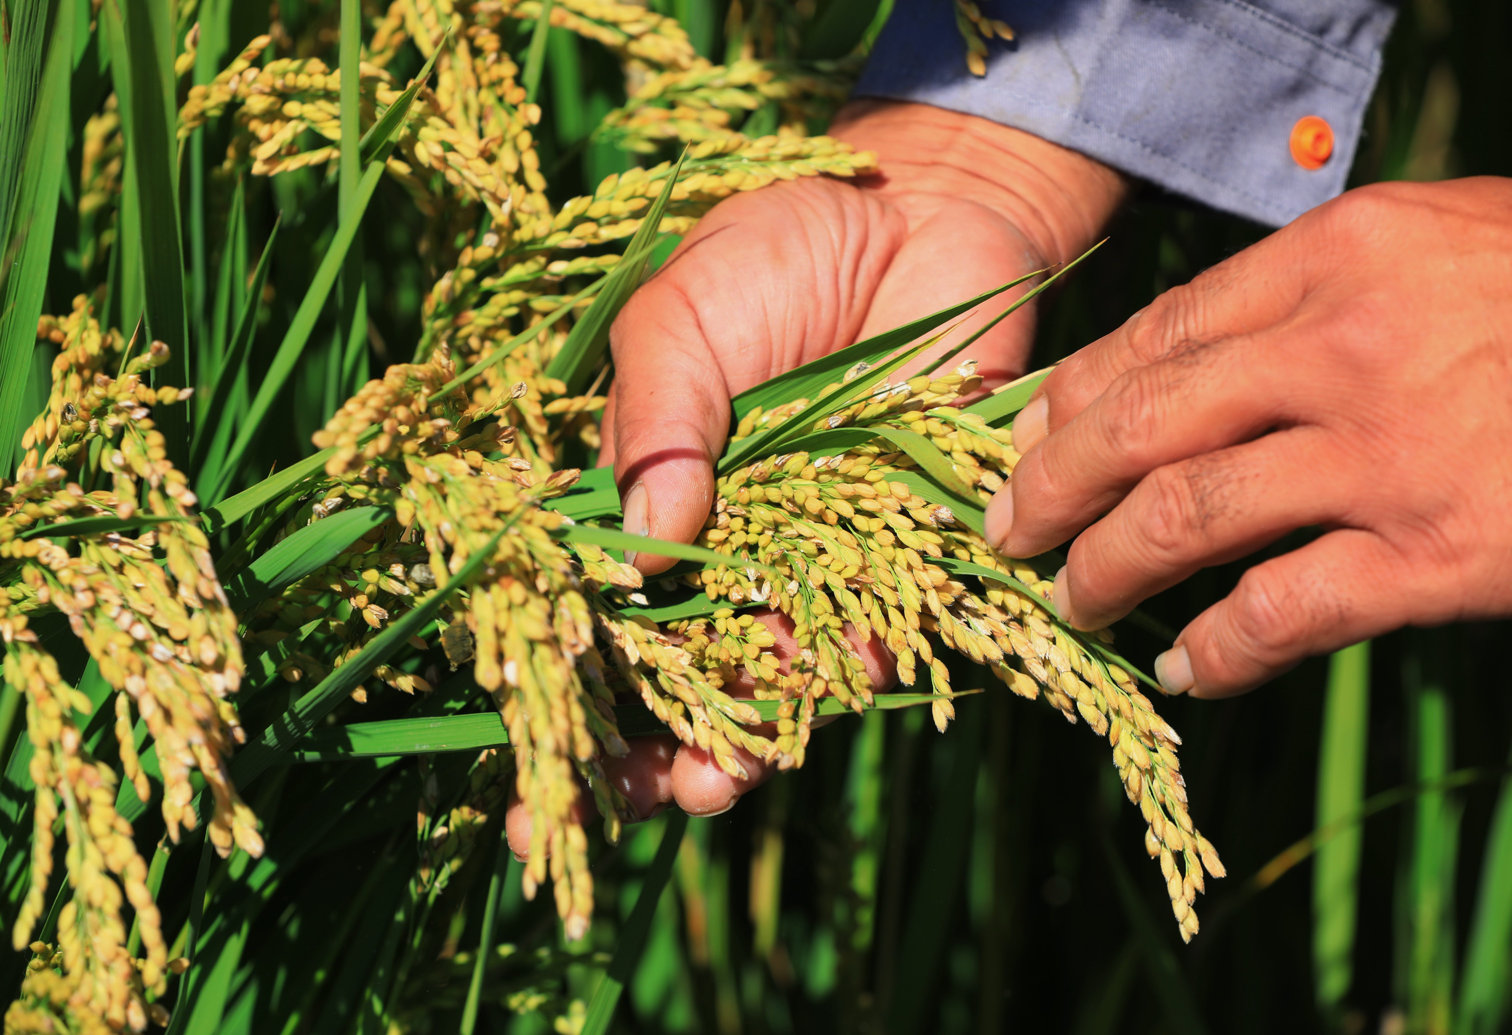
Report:
M 1004 126 L 1199 203 L 1281 225 L 1344 189 L 1385 0 L 978 0 L 1012 42 L 966 68 L 954 0 L 897 0 L 856 95 Z M 1312 127 L 1314 147 L 1293 154 Z M 1318 123 L 1332 153 L 1318 168 Z

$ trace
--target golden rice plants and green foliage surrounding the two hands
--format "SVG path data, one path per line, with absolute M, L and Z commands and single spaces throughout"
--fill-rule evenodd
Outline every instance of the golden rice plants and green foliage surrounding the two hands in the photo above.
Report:
M 1497 15 L 1433 11 L 1394 41 L 1362 177 L 1498 168 L 1455 150 L 1445 94 Z M 1139 660 L 1234 572 L 1114 646 L 1058 620 L 1054 558 L 981 539 L 1037 380 L 971 402 L 953 321 L 1064 271 L 736 396 L 700 539 L 618 528 L 614 315 L 718 200 L 875 168 L 824 127 L 886 14 L 8 6 L 6 1032 L 1501 1030 L 1495 631 L 1355 649 L 1321 726 L 1321 669 L 1166 702 L 1184 770 Z M 971 71 L 1012 59 L 977 6 L 942 18 Z M 1046 360 L 1253 233 L 1116 230 Z M 626 549 L 680 564 L 643 584 Z M 756 607 L 794 620 L 791 664 Z M 833 714 L 860 717 L 812 729 Z M 627 823 L 603 760 L 667 732 L 788 772 Z M 1194 814 L 1250 875 L 1196 940 L 1225 870 Z

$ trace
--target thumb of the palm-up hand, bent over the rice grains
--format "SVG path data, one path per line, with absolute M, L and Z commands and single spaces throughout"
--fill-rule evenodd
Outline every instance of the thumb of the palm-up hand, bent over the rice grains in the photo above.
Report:
M 624 531 L 689 543 L 709 516 L 714 462 L 730 427 L 724 374 L 688 297 L 667 277 L 635 292 L 609 343 Z M 673 564 L 652 554 L 624 558 L 646 575 Z

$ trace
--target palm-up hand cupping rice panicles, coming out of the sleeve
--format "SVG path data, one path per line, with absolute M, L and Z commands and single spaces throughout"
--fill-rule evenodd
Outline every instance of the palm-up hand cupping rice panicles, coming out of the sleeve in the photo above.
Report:
M 927 104 L 857 101 L 832 135 L 877 151 L 859 183 L 804 179 L 718 204 L 641 288 L 611 333 L 615 380 L 603 421 L 624 530 L 692 542 L 714 502 L 714 462 L 730 396 L 838 348 L 1080 254 L 1122 200 L 1123 179 L 1036 136 Z M 1005 304 L 966 318 L 963 336 Z M 1024 372 L 1027 306 L 984 334 L 975 359 L 992 387 Z M 956 337 L 959 340 L 959 337 Z M 646 575 L 671 561 L 627 555 Z M 782 636 L 786 622 L 765 616 Z M 878 688 L 892 658 L 853 637 Z M 771 775 L 741 752 L 745 781 L 708 752 L 638 738 L 606 772 L 641 819 L 676 800 L 712 816 Z M 511 844 L 528 819 L 511 813 Z

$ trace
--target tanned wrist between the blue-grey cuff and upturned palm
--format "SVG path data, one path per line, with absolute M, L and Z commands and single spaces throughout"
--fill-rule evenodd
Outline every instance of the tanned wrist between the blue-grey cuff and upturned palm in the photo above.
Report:
M 930 104 L 854 100 L 836 115 L 830 135 L 877 153 L 881 168 L 862 182 L 865 189 L 984 204 L 1046 263 L 1086 251 L 1131 188 L 1122 172 L 1086 154 Z

